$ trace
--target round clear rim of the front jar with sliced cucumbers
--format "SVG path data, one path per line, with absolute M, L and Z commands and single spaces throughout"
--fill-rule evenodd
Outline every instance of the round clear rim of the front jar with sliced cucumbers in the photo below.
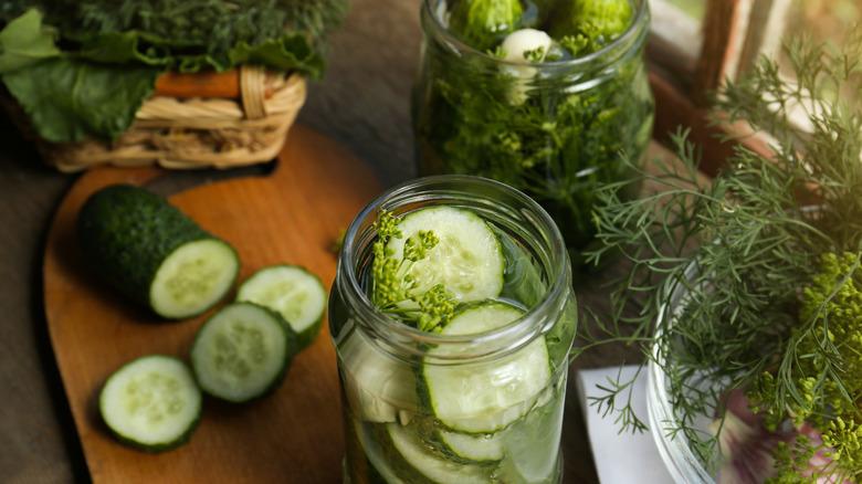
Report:
M 518 202 L 528 209 L 537 227 L 547 230 L 547 240 L 550 242 L 548 249 L 551 263 L 545 267 L 548 271 L 548 287 L 542 295 L 542 298 L 517 319 L 498 328 L 471 335 L 441 335 L 437 333 L 423 332 L 409 326 L 395 318 L 387 317 L 370 301 L 366 291 L 362 290 L 357 278 L 357 253 L 354 251 L 354 244 L 361 236 L 360 232 L 367 231 L 369 220 L 377 220 L 377 213 L 387 206 L 388 201 L 398 200 L 399 197 L 422 188 L 422 191 L 433 189 L 433 187 L 443 187 L 452 183 L 469 183 L 474 187 L 484 187 L 498 191 L 509 197 L 514 197 Z M 424 201 L 429 201 L 425 199 Z M 519 211 L 523 212 L 523 211 Z M 553 221 L 550 215 L 532 198 L 519 190 L 505 183 L 488 178 L 482 178 L 471 175 L 437 175 L 412 179 L 397 185 L 376 197 L 368 202 L 365 208 L 356 215 L 344 235 L 344 244 L 338 259 L 338 270 L 336 282 L 343 297 L 349 297 L 355 303 L 357 309 L 357 319 L 360 326 L 366 327 L 378 336 L 381 336 L 388 346 L 404 350 L 413 356 L 425 356 L 423 353 L 407 348 L 409 345 L 401 345 L 393 341 L 391 337 L 397 336 L 412 343 L 422 343 L 427 345 L 472 345 L 481 353 L 496 354 L 503 349 L 517 349 L 528 344 L 536 335 L 546 330 L 556 324 L 561 308 L 568 302 L 570 293 L 570 264 L 568 262 L 568 252 L 563 241 L 563 235 Z M 514 343 L 514 345 L 513 345 Z M 477 345 L 479 344 L 479 345 Z M 441 356 L 440 359 L 461 360 L 475 358 L 477 355 L 460 354 L 458 356 Z

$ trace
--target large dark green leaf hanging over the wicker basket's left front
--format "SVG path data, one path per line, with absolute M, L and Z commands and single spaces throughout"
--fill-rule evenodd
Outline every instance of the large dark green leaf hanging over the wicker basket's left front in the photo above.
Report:
M 56 57 L 3 74 L 9 92 L 48 141 L 111 140 L 132 126 L 159 67 L 107 66 Z

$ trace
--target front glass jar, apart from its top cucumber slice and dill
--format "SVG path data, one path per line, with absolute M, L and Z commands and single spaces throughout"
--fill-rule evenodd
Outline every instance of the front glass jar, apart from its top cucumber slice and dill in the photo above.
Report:
M 485 220 L 505 270 L 500 296 L 480 304 L 518 307 L 519 317 L 451 335 L 419 330 L 371 303 L 378 214 L 431 206 Z M 344 411 L 344 482 L 560 481 L 577 305 L 564 241 L 532 199 L 469 176 L 421 178 L 382 193 L 345 233 L 328 314 Z

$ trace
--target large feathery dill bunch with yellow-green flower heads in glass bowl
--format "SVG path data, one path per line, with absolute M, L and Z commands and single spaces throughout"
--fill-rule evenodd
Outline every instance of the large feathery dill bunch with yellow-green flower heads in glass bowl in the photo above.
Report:
M 675 417 L 708 469 L 719 435 L 695 425 L 724 415 L 726 396 L 744 389 L 767 425 L 812 425 L 781 444 L 772 482 L 862 477 L 862 31 L 842 49 L 812 36 L 789 39 L 791 83 L 763 57 L 745 78 L 717 93 L 715 117 L 747 123 L 774 137 L 764 156 L 737 145 L 712 180 L 698 178 L 700 152 L 677 133 L 683 161 L 635 181 L 660 187 L 630 200 L 632 181 L 602 188 L 593 212 L 605 243 L 598 262 L 621 251 L 632 269 L 611 307 L 634 316 L 593 314 L 588 343 L 640 345 L 667 378 Z M 839 92 L 851 93 L 847 97 Z M 801 124 L 799 123 L 801 119 Z M 643 299 L 642 302 L 639 299 Z M 628 429 L 645 425 L 617 381 L 597 401 Z M 812 464 L 814 455 L 824 462 Z M 830 481 L 831 482 L 831 481 Z

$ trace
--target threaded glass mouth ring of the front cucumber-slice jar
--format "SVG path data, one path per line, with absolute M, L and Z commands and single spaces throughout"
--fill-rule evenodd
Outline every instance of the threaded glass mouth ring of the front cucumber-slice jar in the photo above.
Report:
M 482 196 L 486 198 L 483 198 Z M 503 206 L 491 196 L 503 196 L 514 203 Z M 547 288 L 540 299 L 528 308 L 522 317 L 502 327 L 472 335 L 441 335 L 420 330 L 398 319 L 387 317 L 371 302 L 360 280 L 357 277 L 364 264 L 369 263 L 370 246 L 377 240 L 372 223 L 380 210 L 395 212 L 408 207 L 406 211 L 424 206 L 458 203 L 470 200 L 470 209 L 483 212 L 503 210 L 512 221 L 528 221 L 545 236 L 545 246 L 539 264 L 547 273 Z M 513 207 L 515 206 L 515 207 Z M 402 212 L 406 212 L 402 210 Z M 496 223 L 498 221 L 491 221 Z M 454 356 L 441 356 L 441 359 L 474 359 L 483 355 L 495 355 L 503 350 L 515 350 L 527 345 L 536 335 L 548 330 L 556 324 L 568 302 L 570 287 L 570 264 L 568 253 L 559 229 L 550 215 L 533 199 L 502 182 L 470 175 L 439 175 L 418 178 L 392 187 L 359 212 L 348 227 L 344 236 L 338 260 L 336 283 L 341 297 L 350 301 L 356 311 L 357 324 L 370 336 L 377 336 L 379 344 L 389 346 L 393 353 L 410 356 L 427 356 L 429 345 L 455 348 Z

